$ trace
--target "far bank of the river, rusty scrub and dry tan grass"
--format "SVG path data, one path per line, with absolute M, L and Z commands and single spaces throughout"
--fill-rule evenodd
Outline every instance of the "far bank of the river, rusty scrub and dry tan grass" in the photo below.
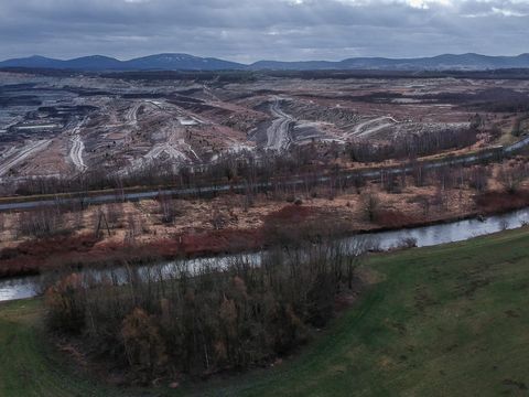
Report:
M 241 200 L 237 196 L 196 203 L 180 201 L 175 205 L 183 215 L 179 215 L 174 226 L 160 221 L 159 224 L 153 223 L 152 219 L 160 216 L 156 214 L 159 204 L 155 202 L 145 202 L 141 206 L 123 204 L 119 210 L 119 217 L 115 221 L 121 227 L 114 227 L 109 235 L 104 229 L 101 235 L 96 237 L 94 232 L 85 226 L 75 234 L 58 234 L 9 244 L 0 249 L 0 279 L 39 275 L 62 267 L 106 267 L 120 266 L 123 262 L 142 265 L 182 257 L 255 251 L 278 242 L 284 244 L 288 239 L 302 238 L 300 233 L 324 232 L 336 237 L 346 237 L 450 224 L 462 219 L 483 221 L 487 216 L 529 205 L 529 190 L 526 189 L 520 189 L 516 194 L 489 191 L 474 197 L 472 192 L 460 190 L 458 196 L 452 194 L 443 206 L 431 207 L 428 215 L 424 215 L 424 208 L 421 207 L 423 202 L 417 197 L 427 197 L 428 192 L 427 189 L 410 187 L 410 193 L 377 193 L 379 204 L 374 210 L 373 221 L 366 218 L 366 210 L 363 207 L 365 204 L 358 194 L 342 194 L 333 200 L 310 198 L 301 205 L 262 202 L 248 210 L 234 204 Z M 468 204 L 469 202 L 475 204 Z M 444 211 L 444 206 L 453 211 Z M 212 215 L 210 207 L 216 208 L 217 214 Z M 110 210 L 112 208 L 106 210 L 108 218 L 111 215 Z M 88 224 L 97 215 L 97 211 L 100 210 L 95 207 L 86 211 L 82 221 Z M 141 217 L 141 224 L 133 223 L 130 226 L 131 216 Z M 12 227 L 17 219 L 13 217 L 10 221 L 13 223 Z M 204 221 L 201 223 L 199 219 Z M 138 229 L 140 234 L 129 238 L 130 227 Z

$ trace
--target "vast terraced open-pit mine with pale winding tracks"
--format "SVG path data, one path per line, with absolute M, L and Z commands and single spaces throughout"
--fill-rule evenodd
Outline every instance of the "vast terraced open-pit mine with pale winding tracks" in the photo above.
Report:
M 439 147 L 461 151 L 511 140 L 528 93 L 527 81 L 494 78 L 0 72 L 0 180 L 203 165 L 307 144 L 323 154 L 350 144 L 373 151 L 471 131 Z M 366 162 L 361 153 L 349 160 Z

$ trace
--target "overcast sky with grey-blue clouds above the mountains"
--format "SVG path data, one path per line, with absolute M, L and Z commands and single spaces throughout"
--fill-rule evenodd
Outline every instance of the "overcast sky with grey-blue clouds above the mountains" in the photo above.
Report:
M 0 58 L 529 52 L 529 0 L 0 0 Z

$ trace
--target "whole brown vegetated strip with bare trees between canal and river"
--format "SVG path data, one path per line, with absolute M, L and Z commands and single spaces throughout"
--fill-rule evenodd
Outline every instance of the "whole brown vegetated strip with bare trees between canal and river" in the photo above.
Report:
M 141 203 L 2 214 L 0 277 L 253 250 L 290 244 L 303 225 L 312 230 L 332 225 L 336 234 L 346 234 L 509 211 L 528 204 L 528 174 L 523 158 L 415 165 L 411 175 L 385 173 L 371 182 L 336 178 L 323 185 L 307 180 L 302 187 L 277 187 L 271 194 L 248 185 L 244 194 L 208 200 L 160 195 Z

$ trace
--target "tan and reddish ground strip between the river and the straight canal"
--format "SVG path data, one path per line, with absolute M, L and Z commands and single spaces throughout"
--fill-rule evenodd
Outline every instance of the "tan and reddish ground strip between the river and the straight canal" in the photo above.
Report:
M 366 214 L 363 195 L 355 189 L 334 194 L 321 189 L 301 195 L 295 200 L 298 205 L 287 202 L 293 201 L 291 197 L 272 200 L 264 195 L 256 196 L 250 206 L 244 205 L 245 197 L 236 194 L 213 200 L 175 200 L 172 206 L 177 213 L 169 224 L 162 222 L 156 201 L 90 206 L 83 213 L 65 214 L 63 234 L 40 239 L 17 232 L 21 214 L 0 214 L 3 225 L 0 277 L 63 266 L 144 262 L 255 250 L 295 239 L 300 233 L 352 234 L 412 227 L 529 205 L 527 182 L 516 194 L 509 194 L 493 178 L 489 189 L 476 193 L 469 187 L 453 187 L 440 195 L 429 186 L 408 184 L 398 193 L 387 193 L 374 184 L 363 189 L 378 200 L 373 221 Z M 101 210 L 107 214 L 109 228 L 102 227 L 96 238 L 95 225 Z

